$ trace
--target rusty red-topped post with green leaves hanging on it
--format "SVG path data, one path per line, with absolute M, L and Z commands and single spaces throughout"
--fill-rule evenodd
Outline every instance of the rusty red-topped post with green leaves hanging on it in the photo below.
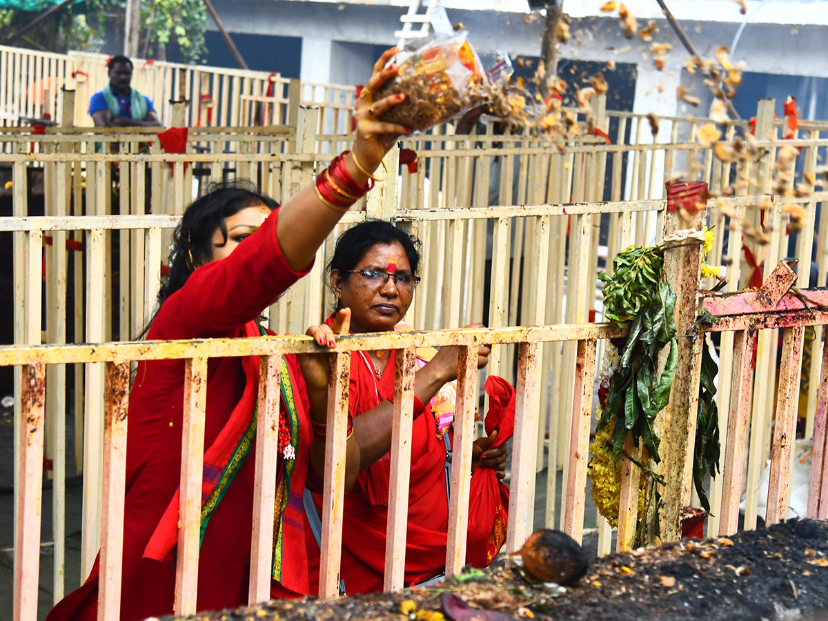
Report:
M 680 230 L 700 231 L 704 215 L 704 209 L 687 212 L 668 207 L 664 237 Z M 676 291 L 678 360 L 670 402 L 658 414 L 655 425 L 657 436 L 662 440 L 659 448 L 662 462 L 655 469 L 665 481 L 662 506 L 658 509 L 662 542 L 677 541 L 681 537 L 681 509 L 689 501 L 691 478 L 686 465 L 696 437 L 701 348 L 704 345 L 703 338 L 687 336 L 696 322 L 701 267 L 701 243 L 687 241 L 668 245 L 664 253 L 664 272 Z M 667 348 L 661 357 L 667 358 Z

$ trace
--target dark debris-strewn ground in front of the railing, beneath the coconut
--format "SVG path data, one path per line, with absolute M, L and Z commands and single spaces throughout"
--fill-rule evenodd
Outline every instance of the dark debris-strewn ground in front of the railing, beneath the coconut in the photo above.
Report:
M 560 595 L 560 587 L 529 583 L 512 560 L 484 575 L 460 578 L 464 581 L 394 595 L 275 601 L 190 619 L 816 621 L 828 619 L 828 521 L 792 520 L 730 538 L 683 540 L 605 556 Z M 450 616 L 444 608 L 450 595 L 477 610 Z

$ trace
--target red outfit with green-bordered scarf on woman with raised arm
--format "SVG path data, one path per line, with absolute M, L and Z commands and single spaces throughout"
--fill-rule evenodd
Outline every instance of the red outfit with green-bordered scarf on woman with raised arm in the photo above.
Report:
M 303 273 L 287 265 L 276 238 L 277 212 L 221 261 L 190 275 L 158 311 L 148 339 L 261 335 L 255 318 Z M 262 257 L 268 257 L 262 261 Z M 250 283 L 244 286 L 240 283 Z M 246 604 L 255 483 L 258 357 L 209 359 L 202 479 L 202 539 L 197 608 Z M 274 516 L 273 590 L 310 592 L 301 493 L 309 466 L 310 425 L 296 359 L 282 364 L 280 419 L 290 431 L 280 451 Z M 121 619 L 171 614 L 181 477 L 184 361 L 140 362 L 130 393 L 123 532 Z M 292 459 L 290 455 L 292 454 Z M 97 619 L 99 566 L 67 595 L 49 621 Z M 281 584 L 280 584 L 281 583 Z

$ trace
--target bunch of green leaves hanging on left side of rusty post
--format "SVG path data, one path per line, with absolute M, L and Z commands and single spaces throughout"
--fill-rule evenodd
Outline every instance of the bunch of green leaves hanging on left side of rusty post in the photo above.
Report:
M 609 386 L 599 429 L 614 418 L 613 450 L 619 460 L 628 431 L 656 463 L 660 440 L 653 428 L 658 412 L 670 400 L 678 348 L 673 310 L 676 292 L 664 276 L 662 248 L 630 247 L 613 260 L 613 274 L 603 273 L 604 316 L 629 327 L 621 365 Z M 658 354 L 670 346 L 667 366 L 658 373 Z

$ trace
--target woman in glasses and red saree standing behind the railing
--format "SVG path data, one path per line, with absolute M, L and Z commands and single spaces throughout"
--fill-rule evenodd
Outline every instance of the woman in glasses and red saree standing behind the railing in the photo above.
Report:
M 368 221 L 339 238 L 330 261 L 330 284 L 338 298 L 337 319 L 350 310 L 354 333 L 394 330 L 411 306 L 420 255 L 416 240 L 392 224 Z M 326 322 L 331 325 L 332 315 Z M 332 330 L 335 332 L 335 330 Z M 479 348 L 479 367 L 487 362 L 489 348 Z M 445 484 L 445 445 L 453 410 L 436 411 L 432 397 L 456 378 L 458 349 L 418 352 L 424 359 L 416 372 L 409 479 L 405 581 L 420 583 L 439 575 L 445 567 L 448 499 Z M 425 360 L 427 359 L 427 362 Z M 315 364 L 322 363 L 315 359 Z M 324 407 L 327 394 L 325 369 L 302 366 L 311 410 Z M 340 575 L 349 595 L 382 590 L 388 522 L 388 485 L 394 392 L 394 353 L 356 352 L 351 355 L 349 414 L 359 445 L 359 476 L 345 495 Z M 511 387 L 510 387 L 511 388 Z M 445 397 L 445 396 L 444 396 Z M 430 403 L 428 406 L 423 404 Z M 318 403 L 319 406 L 315 404 Z M 448 420 L 447 420 L 448 418 Z M 511 436 L 511 431 L 508 432 Z M 493 469 L 503 478 L 506 451 L 495 446 L 498 433 L 474 442 L 473 470 Z M 503 440 L 505 441 L 505 440 Z M 498 443 L 499 445 L 499 443 Z M 350 464 L 349 464 L 350 466 Z M 482 474 L 482 473 L 481 473 Z M 491 474 L 491 473 L 487 473 Z M 497 487 L 498 482 L 495 481 Z M 472 498 L 479 515 L 469 518 L 466 561 L 486 566 L 498 553 L 506 535 L 508 489 L 499 484 L 493 498 Z M 479 489 L 479 486 L 473 486 Z M 320 496 L 315 494 L 317 508 Z M 483 519 L 480 519 L 483 517 Z M 319 550 L 308 537 L 311 582 L 318 580 Z

